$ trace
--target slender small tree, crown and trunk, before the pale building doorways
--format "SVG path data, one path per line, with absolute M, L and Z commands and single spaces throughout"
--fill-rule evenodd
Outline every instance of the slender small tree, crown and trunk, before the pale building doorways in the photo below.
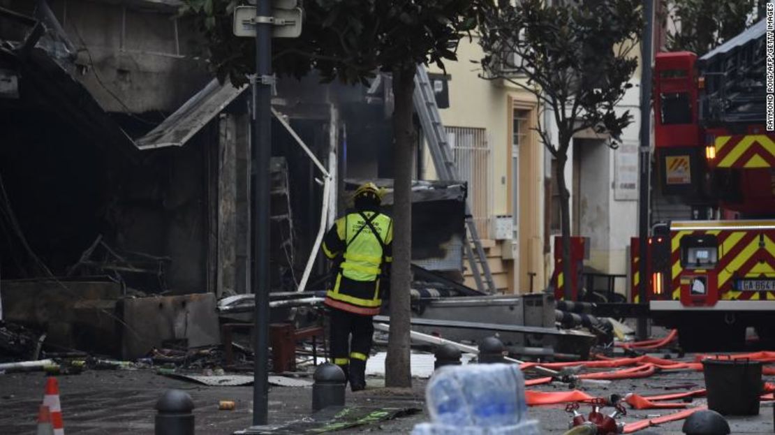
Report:
M 563 236 L 563 274 L 570 276 L 570 193 L 565 182 L 567 152 L 575 133 L 608 133 L 617 146 L 632 122 L 616 109 L 636 71 L 632 53 L 644 25 L 639 0 L 544 0 L 501 2 L 483 11 L 480 44 L 484 76 L 511 81 L 532 92 L 549 110 L 557 136 L 539 123 L 538 133 L 557 161 Z M 539 120 L 542 117 L 539 116 Z M 564 280 L 570 295 L 570 279 Z

